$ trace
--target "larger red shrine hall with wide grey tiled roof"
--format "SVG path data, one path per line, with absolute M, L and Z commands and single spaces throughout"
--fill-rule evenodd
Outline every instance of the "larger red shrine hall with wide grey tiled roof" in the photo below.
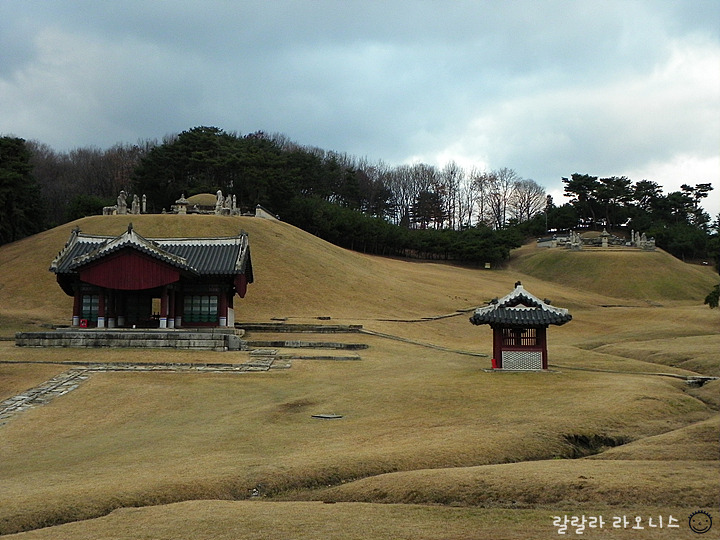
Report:
M 144 238 L 76 228 L 50 266 L 74 298 L 72 325 L 97 328 L 234 326 L 235 294 L 253 282 L 247 233 Z

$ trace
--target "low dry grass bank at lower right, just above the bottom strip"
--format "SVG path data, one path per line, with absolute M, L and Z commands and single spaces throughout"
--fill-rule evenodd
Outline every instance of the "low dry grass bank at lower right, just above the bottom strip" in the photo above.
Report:
M 667 505 L 712 508 L 716 461 L 531 461 L 415 470 L 307 494 L 312 500 L 394 504 L 573 508 Z M 304 494 L 296 494 L 296 498 Z

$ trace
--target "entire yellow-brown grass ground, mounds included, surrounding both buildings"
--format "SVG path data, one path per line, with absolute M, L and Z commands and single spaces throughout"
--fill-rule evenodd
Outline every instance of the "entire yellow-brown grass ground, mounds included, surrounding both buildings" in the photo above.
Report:
M 280 222 L 132 220 L 148 237 L 248 231 L 256 283 L 236 302 L 238 320 L 331 317 L 412 342 L 334 335 L 369 345 L 362 360 L 295 360 L 284 371 L 95 373 L 0 425 L 0 533 L 550 538 L 553 516 L 594 512 L 673 514 L 683 528 L 586 536 L 684 538 L 693 510 L 720 519 L 720 381 L 691 388 L 668 376 L 718 374 L 720 314 L 702 305 L 717 281 L 709 269 L 662 251 L 578 263 L 525 246 L 507 268 L 485 271 L 365 256 Z M 66 323 L 71 300 L 50 260 L 76 224 L 119 234 L 127 221 L 86 218 L 0 248 L 0 337 Z M 489 358 L 462 354 L 492 352 L 489 328 L 472 326 L 468 310 L 518 279 L 573 314 L 549 330 L 548 373 L 490 373 Z M 0 363 L 0 399 L 89 359 L 242 362 L 247 353 L 4 341 L 0 360 L 15 363 Z

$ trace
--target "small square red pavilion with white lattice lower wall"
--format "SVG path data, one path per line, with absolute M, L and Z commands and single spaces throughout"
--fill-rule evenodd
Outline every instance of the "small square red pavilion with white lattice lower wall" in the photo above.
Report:
M 550 305 L 527 292 L 518 281 L 515 290 L 475 310 L 470 322 L 493 329 L 493 368 L 548 368 L 547 328 L 572 320 L 567 309 Z

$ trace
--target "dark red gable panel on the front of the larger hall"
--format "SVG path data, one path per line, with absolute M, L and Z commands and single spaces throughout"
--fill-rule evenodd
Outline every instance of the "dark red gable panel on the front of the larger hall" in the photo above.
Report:
M 138 291 L 175 283 L 180 271 L 134 249 L 124 249 L 80 269 L 80 280 L 108 289 Z

